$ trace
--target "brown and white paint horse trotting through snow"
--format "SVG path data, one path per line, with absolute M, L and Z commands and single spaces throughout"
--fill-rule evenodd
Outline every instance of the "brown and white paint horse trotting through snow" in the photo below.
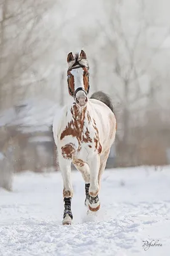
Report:
M 116 119 L 110 97 L 95 92 L 90 98 L 89 63 L 83 50 L 67 55 L 67 84 L 73 103 L 62 108 L 53 120 L 60 172 L 64 182 L 63 225 L 71 224 L 71 163 L 85 180 L 85 205 L 88 211 L 100 208 L 99 189 L 110 148 L 115 141 Z

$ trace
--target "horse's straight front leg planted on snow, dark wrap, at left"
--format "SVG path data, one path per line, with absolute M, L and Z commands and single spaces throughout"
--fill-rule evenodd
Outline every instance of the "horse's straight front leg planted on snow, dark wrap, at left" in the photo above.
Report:
M 64 184 L 63 198 L 64 198 L 64 214 L 63 225 L 70 225 L 73 220 L 73 214 L 71 212 L 71 198 L 73 196 L 73 187 L 71 184 L 71 160 L 60 157 L 59 159 L 60 172 L 62 173 L 62 179 Z

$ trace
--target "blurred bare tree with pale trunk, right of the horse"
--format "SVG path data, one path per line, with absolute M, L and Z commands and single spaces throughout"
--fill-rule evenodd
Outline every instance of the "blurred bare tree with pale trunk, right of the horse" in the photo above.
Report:
M 118 117 L 118 125 L 120 125 L 122 132 L 118 131 L 118 140 L 120 147 L 117 148 L 122 164 L 132 164 L 132 159 L 136 157 L 136 143 L 137 140 L 132 139 L 132 127 L 138 126 L 143 114 L 141 109 L 145 112 L 147 108 L 147 99 L 150 97 L 150 92 L 143 87 L 146 84 L 142 83 L 142 78 L 148 79 L 148 87 L 150 81 L 153 81 L 152 60 L 155 55 L 160 52 L 160 48 L 166 38 L 169 36 L 169 28 L 159 42 L 157 47 L 152 49 L 147 44 L 146 36 L 148 30 L 152 28 L 152 24 L 147 22 L 145 18 L 146 3 L 141 0 L 135 3 L 136 17 L 132 17 L 127 22 L 124 8 L 126 1 L 110 1 L 108 6 L 104 6 L 108 22 L 99 22 L 101 31 L 106 37 L 105 52 L 110 51 L 110 61 L 113 60 L 113 81 L 118 78 L 118 88 L 113 86 L 113 93 L 117 93 L 120 102 L 121 115 Z M 131 3 L 132 4 L 132 3 Z M 106 8 L 109 9 L 106 9 Z M 138 13 L 138 15 L 137 15 Z M 107 26 L 106 26 L 107 24 Z M 110 50 L 112 47 L 112 51 Z M 109 49 L 109 50 L 108 50 Z M 159 73 L 159 76 L 161 74 Z M 155 90 L 160 88 L 155 86 Z M 136 115 L 134 115 L 136 113 Z M 141 115 L 142 114 L 142 115 Z M 134 119 L 137 116 L 138 119 Z M 135 124 L 136 122 L 136 124 Z M 122 137 L 119 135 L 122 134 Z M 138 135 L 137 135 L 138 136 Z M 138 140 L 138 143 L 140 141 Z M 135 160 L 134 160 L 135 161 Z

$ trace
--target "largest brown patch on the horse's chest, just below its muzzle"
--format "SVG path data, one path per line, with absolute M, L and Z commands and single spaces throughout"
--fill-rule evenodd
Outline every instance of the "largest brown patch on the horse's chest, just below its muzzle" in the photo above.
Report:
M 81 149 L 81 143 L 85 142 L 92 142 L 92 138 L 90 138 L 90 132 L 88 129 L 86 129 L 85 132 L 83 132 L 84 122 L 85 122 L 85 113 L 87 111 L 87 107 L 83 108 L 81 111 L 76 104 L 73 105 L 71 108 L 71 114 L 73 116 L 73 120 L 69 122 L 62 131 L 60 135 L 60 140 L 62 140 L 66 136 L 72 136 L 75 137 L 78 140 L 78 150 Z

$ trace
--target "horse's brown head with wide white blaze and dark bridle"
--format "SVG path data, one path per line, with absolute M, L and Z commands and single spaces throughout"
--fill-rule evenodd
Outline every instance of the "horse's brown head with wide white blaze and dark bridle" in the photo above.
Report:
M 80 54 L 67 55 L 67 83 L 69 94 L 73 96 L 76 104 L 84 107 L 87 104 L 89 93 L 89 64 L 87 56 L 83 50 Z

